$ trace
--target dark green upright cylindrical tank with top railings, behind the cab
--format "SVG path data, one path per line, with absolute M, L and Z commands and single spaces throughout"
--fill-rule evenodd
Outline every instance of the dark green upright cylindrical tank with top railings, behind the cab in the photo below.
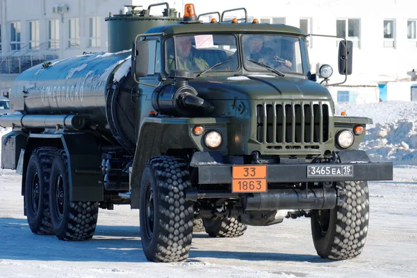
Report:
M 150 10 L 155 6 L 166 6 L 163 15 L 156 17 L 150 15 Z M 119 52 L 132 48 L 132 42 L 136 35 L 145 33 L 148 29 L 176 23 L 182 20 L 177 17 L 177 11 L 170 8 L 166 2 L 149 5 L 147 10 L 135 10 L 141 6 L 125 6 L 132 10 L 126 15 L 110 15 L 106 17 L 108 21 L 108 52 Z

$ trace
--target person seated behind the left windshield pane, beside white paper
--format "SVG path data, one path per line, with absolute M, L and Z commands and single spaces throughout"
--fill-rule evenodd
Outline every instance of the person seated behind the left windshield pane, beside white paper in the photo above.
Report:
M 175 38 L 175 45 L 177 49 L 177 69 L 185 69 L 188 71 L 204 71 L 208 69 L 207 62 L 199 57 L 195 57 L 193 55 L 193 48 L 191 44 L 190 37 L 183 36 L 183 37 L 176 37 Z M 174 59 L 174 51 L 168 52 L 170 53 L 168 58 L 168 70 L 174 69 L 175 59 Z

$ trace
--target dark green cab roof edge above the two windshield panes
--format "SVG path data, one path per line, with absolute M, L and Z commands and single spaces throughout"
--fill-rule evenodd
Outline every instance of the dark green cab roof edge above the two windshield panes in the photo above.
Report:
M 288 35 L 302 35 L 306 33 L 300 28 L 285 24 L 253 24 L 253 23 L 177 23 L 150 28 L 146 33 L 165 33 L 177 35 L 187 33 L 286 33 Z

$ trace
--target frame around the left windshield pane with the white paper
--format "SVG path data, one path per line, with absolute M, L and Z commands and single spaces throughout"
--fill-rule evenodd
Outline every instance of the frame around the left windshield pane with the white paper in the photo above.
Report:
M 224 32 L 179 33 L 179 34 L 172 35 L 170 37 L 165 37 L 164 46 L 163 46 L 164 63 L 165 63 L 164 64 L 164 72 L 165 72 L 165 74 L 170 73 L 170 70 L 168 68 L 168 59 L 169 59 L 168 55 L 169 55 L 169 53 L 168 53 L 168 46 L 167 46 L 169 41 L 172 40 L 172 43 L 174 44 L 173 48 L 174 48 L 174 56 L 175 56 L 175 69 L 177 69 L 177 64 L 178 64 L 178 62 L 177 62 L 177 47 L 175 47 L 175 45 L 176 45 L 175 41 L 177 40 L 178 37 L 195 36 L 195 35 L 229 35 L 229 36 L 233 36 L 234 40 L 235 40 L 235 43 L 236 43 L 236 51 L 239 51 L 238 52 L 238 61 L 237 61 L 238 67 L 236 67 L 235 69 L 229 69 L 229 70 L 228 69 L 215 69 L 215 70 L 212 69 L 211 71 L 208 71 L 206 73 L 206 75 L 208 75 L 208 73 L 212 73 L 212 72 L 214 72 L 214 73 L 232 73 L 232 72 L 240 71 L 240 69 L 242 69 L 242 61 L 241 61 L 241 58 L 240 58 L 240 37 L 239 37 L 240 34 L 224 33 Z M 236 53 L 236 51 L 235 51 L 235 53 Z M 234 55 L 234 54 L 232 54 L 232 55 Z M 229 58 L 231 58 L 231 56 L 229 56 Z M 208 65 L 208 67 L 210 67 L 210 65 Z M 201 73 L 202 71 L 204 71 L 204 70 L 193 71 L 193 72 L 194 73 Z

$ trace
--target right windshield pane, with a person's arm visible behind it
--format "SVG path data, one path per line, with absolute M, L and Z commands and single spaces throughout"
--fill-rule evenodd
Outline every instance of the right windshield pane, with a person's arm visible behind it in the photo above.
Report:
M 300 39 L 284 35 L 242 35 L 243 65 L 248 71 L 268 71 L 250 60 L 278 71 L 303 73 Z

